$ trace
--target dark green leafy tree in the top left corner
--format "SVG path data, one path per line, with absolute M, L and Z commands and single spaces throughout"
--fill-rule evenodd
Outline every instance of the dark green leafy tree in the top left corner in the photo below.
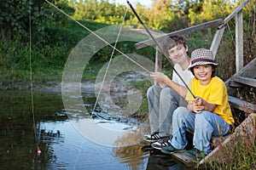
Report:
M 56 2 L 60 8 L 68 9 L 69 14 L 72 14 L 72 8 L 69 8 L 65 1 L 49 1 Z M 0 3 L 0 37 L 27 42 L 31 28 L 32 34 L 37 35 L 34 37 L 43 39 L 39 37 L 47 34 L 45 28 L 53 23 L 61 23 L 62 18 L 60 13 L 56 13 L 48 3 L 42 0 L 3 0 Z

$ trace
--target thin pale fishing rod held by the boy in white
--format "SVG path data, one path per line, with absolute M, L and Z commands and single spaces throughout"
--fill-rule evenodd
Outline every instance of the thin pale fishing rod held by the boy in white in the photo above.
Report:
M 124 54 L 123 52 L 121 52 L 118 48 L 113 47 L 112 44 L 110 44 L 109 42 L 107 42 L 104 38 L 98 36 L 94 31 L 91 31 L 89 28 L 87 28 L 86 26 L 82 25 L 78 20 L 73 19 L 73 17 L 71 17 L 70 15 L 68 15 L 67 13 L 65 13 L 63 10 L 61 10 L 61 8 L 58 8 L 55 4 L 50 3 L 48 0 L 44 0 L 46 3 L 49 3 L 51 6 L 53 6 L 54 8 L 56 8 L 58 11 L 60 11 L 62 14 L 65 14 L 67 16 L 67 18 L 75 21 L 77 24 L 79 24 L 79 26 L 82 26 L 85 30 L 90 31 L 91 34 L 93 34 L 94 36 L 96 36 L 97 38 L 99 38 L 100 40 L 102 40 L 102 42 L 105 42 L 108 46 L 110 46 L 111 48 L 113 48 L 114 50 L 116 50 L 117 52 L 119 52 L 119 54 L 124 55 L 127 59 L 130 59 L 131 62 L 133 62 L 135 65 L 138 65 L 139 67 L 141 67 L 144 71 L 147 71 L 148 73 L 150 73 L 151 71 L 148 71 L 148 69 L 144 68 L 143 65 L 140 65 L 139 63 L 137 63 L 135 60 L 131 59 L 131 57 L 129 57 L 128 55 Z

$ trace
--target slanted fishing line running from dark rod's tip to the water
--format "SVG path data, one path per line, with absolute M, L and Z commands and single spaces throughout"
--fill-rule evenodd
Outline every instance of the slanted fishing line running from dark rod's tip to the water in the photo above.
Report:
M 106 79 L 107 74 L 108 74 L 109 65 L 110 65 L 110 63 L 111 63 L 111 61 L 112 61 L 112 59 L 113 59 L 114 49 L 116 48 L 117 42 L 119 41 L 119 36 L 120 36 L 121 31 L 122 31 L 123 25 L 124 25 L 124 23 L 125 23 L 125 18 L 126 18 L 126 14 L 127 14 L 127 9 L 128 9 L 128 7 L 127 7 L 126 10 L 125 10 L 125 16 L 124 16 L 122 25 L 121 25 L 121 27 L 119 28 L 118 36 L 117 36 L 117 38 L 116 38 L 116 41 L 114 42 L 114 46 L 113 46 L 114 48 L 113 48 L 113 50 L 112 50 L 112 54 L 111 54 L 110 59 L 109 59 L 109 61 L 108 61 L 108 66 L 107 66 L 105 75 L 104 75 L 103 80 L 102 80 L 102 86 L 101 86 L 100 91 L 99 91 L 99 93 L 98 93 L 98 95 L 97 95 L 97 97 L 96 97 L 96 102 L 95 102 L 95 105 L 94 105 L 94 107 L 93 107 L 92 113 L 94 113 L 94 111 L 95 111 L 95 109 L 96 109 L 96 104 L 98 103 L 100 94 L 102 93 L 102 88 L 103 88 L 103 84 L 104 84 L 105 79 Z

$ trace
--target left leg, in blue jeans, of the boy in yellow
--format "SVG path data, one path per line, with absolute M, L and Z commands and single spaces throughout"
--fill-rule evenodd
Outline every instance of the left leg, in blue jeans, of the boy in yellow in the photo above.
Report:
M 195 114 L 186 107 L 178 107 L 172 116 L 171 144 L 177 150 L 183 150 L 188 144 L 186 139 L 186 127 L 195 129 Z

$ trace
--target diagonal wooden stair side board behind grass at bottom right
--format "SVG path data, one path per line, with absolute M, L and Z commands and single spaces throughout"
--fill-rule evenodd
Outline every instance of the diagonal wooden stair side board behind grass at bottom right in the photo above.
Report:
M 255 143 L 256 136 L 256 113 L 250 114 L 247 119 L 236 127 L 235 133 L 230 134 L 228 139 L 225 139 L 222 144 L 219 144 L 212 152 L 204 159 L 199 161 L 197 167 L 209 165 L 212 161 L 224 164 L 229 161 L 230 157 L 236 155 L 236 147 L 244 146 L 250 148 Z

